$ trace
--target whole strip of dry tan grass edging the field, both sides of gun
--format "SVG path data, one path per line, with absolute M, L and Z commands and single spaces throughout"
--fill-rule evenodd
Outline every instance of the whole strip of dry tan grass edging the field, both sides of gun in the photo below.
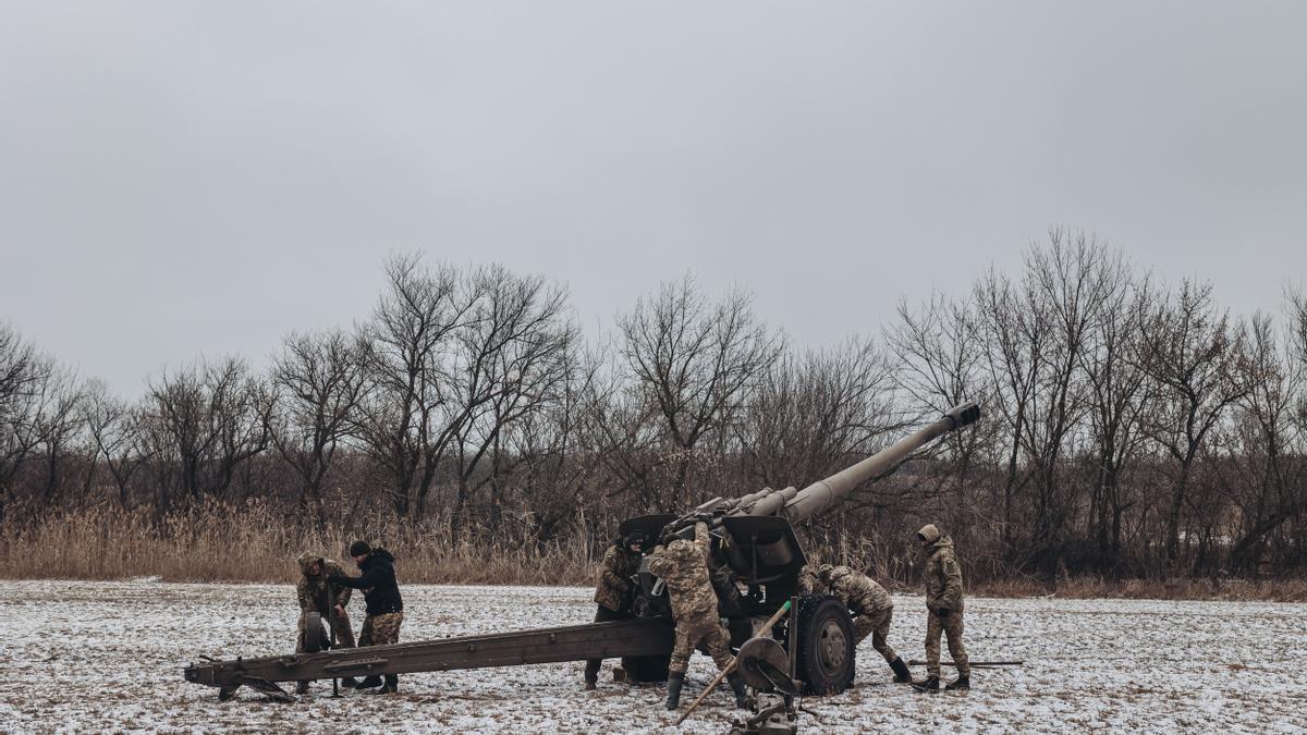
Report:
M 260 504 L 200 504 L 156 521 L 146 510 L 69 511 L 0 528 L 0 578 L 127 579 L 187 582 L 290 582 L 302 551 L 344 558 L 344 547 L 366 538 L 389 549 L 404 582 L 447 585 L 579 585 L 595 579 L 601 548 L 588 534 L 538 545 L 486 535 L 451 536 L 443 523 L 400 522 L 392 515 L 352 527 L 294 523 Z M 865 539 L 814 549 L 823 560 L 865 569 L 887 587 L 916 591 L 914 560 Z M 1307 602 L 1307 579 L 1111 579 L 1061 577 L 1055 582 L 1010 574 L 971 579 L 968 594 L 1000 598 L 1221 599 Z

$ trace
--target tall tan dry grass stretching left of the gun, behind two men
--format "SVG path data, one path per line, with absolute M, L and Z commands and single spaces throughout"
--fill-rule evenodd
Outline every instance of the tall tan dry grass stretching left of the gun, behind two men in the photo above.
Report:
M 363 530 L 366 528 L 366 531 Z M 303 551 L 344 560 L 365 538 L 395 555 L 401 579 L 454 585 L 588 585 L 591 549 L 454 538 L 444 524 L 375 519 L 358 528 L 290 523 L 252 504 L 201 505 L 154 522 L 146 511 L 82 510 L 0 530 L 0 577 L 290 582 Z

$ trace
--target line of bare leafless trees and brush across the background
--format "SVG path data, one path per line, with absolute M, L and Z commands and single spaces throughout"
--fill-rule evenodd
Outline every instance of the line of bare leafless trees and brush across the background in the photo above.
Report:
M 264 369 L 197 358 L 114 395 L 0 326 L 0 522 L 201 502 L 294 523 L 366 513 L 548 543 L 761 487 L 804 487 L 976 400 L 950 434 L 801 530 L 894 565 L 937 522 L 971 572 L 1278 575 L 1307 557 L 1307 294 L 1231 315 L 1093 235 L 801 348 L 690 276 L 584 339 L 567 292 L 391 256 L 349 328 Z M 893 569 L 882 569 L 893 573 Z

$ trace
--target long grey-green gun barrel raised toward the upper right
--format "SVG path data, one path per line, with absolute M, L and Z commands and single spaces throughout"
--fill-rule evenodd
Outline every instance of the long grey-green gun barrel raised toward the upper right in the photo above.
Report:
M 779 510 L 791 523 L 797 523 L 829 507 L 836 500 L 872 477 L 891 470 L 916 449 L 949 432 L 961 429 L 967 424 L 974 424 L 978 419 L 980 419 L 980 407 L 975 403 L 968 402 L 955 405 L 929 426 L 903 437 L 852 467 L 840 470 L 825 480 L 818 480 L 802 490 L 792 492 L 791 497 L 784 497 L 782 493 L 763 497 L 754 505 L 750 515 L 774 515 Z M 787 489 L 792 490 L 792 488 Z M 772 501 L 772 498 L 775 500 Z

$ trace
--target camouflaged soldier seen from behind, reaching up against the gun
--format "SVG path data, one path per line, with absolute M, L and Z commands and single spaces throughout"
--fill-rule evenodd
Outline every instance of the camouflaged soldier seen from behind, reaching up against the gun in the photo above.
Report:
M 676 619 L 676 645 L 668 666 L 667 709 L 681 704 L 681 685 L 685 670 L 695 646 L 703 643 L 718 668 L 725 671 L 735 660 L 731 655 L 731 634 L 718 616 L 718 595 L 708 581 L 708 524 L 701 519 L 694 524 L 694 540 L 676 539 L 664 549 L 654 549 L 650 572 L 667 585 L 672 599 L 672 617 Z M 745 706 L 744 677 L 732 671 L 727 676 L 736 705 Z

